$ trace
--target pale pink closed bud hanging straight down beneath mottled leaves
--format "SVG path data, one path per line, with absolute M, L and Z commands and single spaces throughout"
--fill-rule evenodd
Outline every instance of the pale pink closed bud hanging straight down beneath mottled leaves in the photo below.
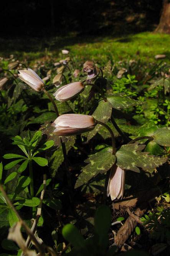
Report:
M 114 164 L 111 169 L 111 175 L 107 186 L 107 196 L 111 199 L 119 199 L 124 194 L 125 171 Z

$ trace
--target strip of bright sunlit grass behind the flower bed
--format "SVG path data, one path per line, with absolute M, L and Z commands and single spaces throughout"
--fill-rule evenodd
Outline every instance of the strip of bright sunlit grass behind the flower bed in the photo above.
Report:
M 53 38 L 29 38 L 29 40 L 5 40 L 5 50 L 0 55 L 7 57 L 14 54 L 18 59 L 25 59 L 29 64 L 35 60 L 53 59 L 57 61 L 61 49 L 70 50 L 74 58 L 83 61 L 94 60 L 99 64 L 105 64 L 110 59 L 114 61 L 124 59 L 141 59 L 143 63 L 155 61 L 156 54 L 166 54 L 169 51 L 170 35 L 153 34 L 143 32 L 122 37 L 53 37 Z M 16 45 L 17 44 L 17 45 Z M 9 46 L 9 47 L 8 47 Z M 2 48 L 2 47 L 1 47 Z M 168 61 L 168 58 L 165 59 Z

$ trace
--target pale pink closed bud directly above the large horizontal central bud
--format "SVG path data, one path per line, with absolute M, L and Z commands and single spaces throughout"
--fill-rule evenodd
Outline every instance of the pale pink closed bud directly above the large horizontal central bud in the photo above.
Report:
M 84 90 L 84 84 L 81 82 L 73 82 L 71 84 L 66 84 L 60 87 L 56 92 L 53 94 L 56 100 L 64 102 L 66 100 L 70 100 L 80 92 Z

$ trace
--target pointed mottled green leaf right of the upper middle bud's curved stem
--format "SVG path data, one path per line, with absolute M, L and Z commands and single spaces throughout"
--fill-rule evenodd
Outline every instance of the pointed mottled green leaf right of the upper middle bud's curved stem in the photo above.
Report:
M 138 105 L 142 105 L 145 102 L 140 101 L 140 100 L 134 100 L 134 99 L 130 99 L 127 96 L 123 96 L 124 93 L 116 93 L 116 94 L 110 94 L 107 96 L 107 101 L 110 102 L 112 104 L 112 107 L 114 109 L 125 109 L 129 106 L 138 106 Z

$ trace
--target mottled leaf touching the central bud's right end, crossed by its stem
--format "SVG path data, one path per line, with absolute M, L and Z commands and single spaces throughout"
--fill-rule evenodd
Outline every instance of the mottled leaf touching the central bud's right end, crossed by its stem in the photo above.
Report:
M 92 116 L 103 123 L 106 123 L 112 114 L 112 106 L 109 102 L 100 101 L 99 105 L 97 106 L 96 110 L 92 114 Z M 102 128 L 101 124 L 97 124 L 96 127 L 88 133 L 87 141 L 89 141 L 96 133 Z

